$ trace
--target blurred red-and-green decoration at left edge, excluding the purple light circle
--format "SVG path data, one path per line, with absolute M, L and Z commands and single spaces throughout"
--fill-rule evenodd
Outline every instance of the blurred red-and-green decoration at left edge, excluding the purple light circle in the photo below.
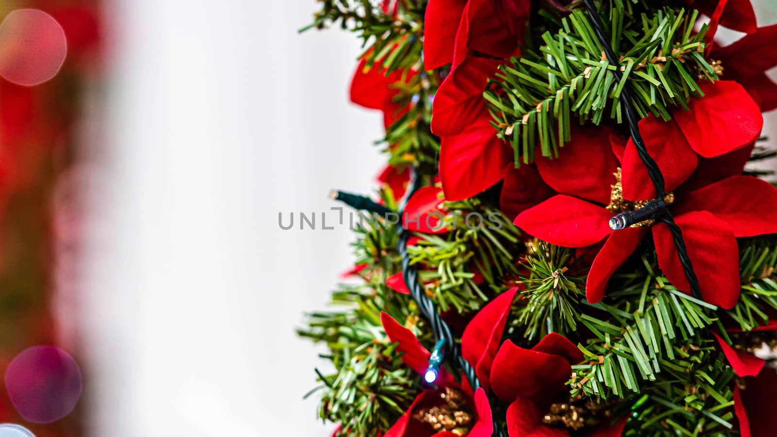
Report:
M 54 229 L 54 193 L 61 181 L 70 179 L 66 176 L 78 163 L 85 90 L 99 85 L 104 40 L 99 6 L 96 0 L 29 0 L 0 5 L 0 20 L 18 9 L 39 9 L 61 26 L 49 26 L 42 36 L 33 38 L 39 58 L 27 59 L 26 66 L 8 64 L 25 59 L 23 54 L 11 53 L 9 47 L 22 53 L 29 47 L 0 40 L 0 75 L 16 72 L 17 76 L 9 79 L 19 83 L 46 79 L 47 72 L 30 72 L 30 65 L 51 72 L 61 51 L 55 29 L 64 31 L 67 41 L 61 68 L 40 85 L 23 86 L 0 77 L 0 369 L 4 373 L 20 352 L 40 344 L 64 348 L 81 364 L 77 343 L 59 344 L 62 335 L 53 311 L 54 269 L 57 257 L 63 256 L 56 250 L 62 236 Z M 0 38 L 2 35 L 0 32 Z M 34 80 L 16 80 L 19 77 Z M 84 379 L 88 383 L 88 372 Z M 37 437 L 80 437 L 85 435 L 82 404 L 61 420 L 32 424 L 16 411 L 4 383 L 0 422 L 23 425 Z

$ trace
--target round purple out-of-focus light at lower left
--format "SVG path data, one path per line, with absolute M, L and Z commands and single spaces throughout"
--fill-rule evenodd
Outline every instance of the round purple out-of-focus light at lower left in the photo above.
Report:
M 70 414 L 78 404 L 81 370 L 68 352 L 54 346 L 34 346 L 9 363 L 5 388 L 25 420 L 51 423 Z

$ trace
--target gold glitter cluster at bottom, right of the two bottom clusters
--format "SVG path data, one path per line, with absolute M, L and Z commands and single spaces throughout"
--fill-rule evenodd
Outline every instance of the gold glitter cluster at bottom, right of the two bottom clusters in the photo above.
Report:
M 577 394 L 566 402 L 551 404 L 548 413 L 542 418 L 542 423 L 554 428 L 580 431 L 584 428 L 594 428 L 611 418 L 611 404 L 599 404 L 591 398 Z

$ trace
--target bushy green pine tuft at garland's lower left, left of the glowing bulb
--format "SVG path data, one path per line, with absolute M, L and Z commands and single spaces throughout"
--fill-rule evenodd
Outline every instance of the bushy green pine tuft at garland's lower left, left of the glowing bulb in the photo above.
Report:
M 406 308 L 409 299 L 399 305 L 385 305 L 375 299 L 368 286 L 343 286 L 334 293 L 335 302 L 354 307 L 334 313 L 308 315 L 308 328 L 298 330 L 301 337 L 324 342 L 329 348 L 319 355 L 332 363 L 335 372 L 324 375 L 318 369 L 320 386 L 319 417 L 342 424 L 339 435 L 374 437 L 389 428 L 402 415 L 420 389 L 420 379 L 395 351 L 380 323 L 381 311 L 393 313 L 399 320 L 417 320 Z M 402 307 L 404 305 L 404 308 Z M 392 309 L 394 311 L 392 311 Z M 401 316 L 405 316 L 402 318 Z M 414 328 L 420 338 L 423 330 Z

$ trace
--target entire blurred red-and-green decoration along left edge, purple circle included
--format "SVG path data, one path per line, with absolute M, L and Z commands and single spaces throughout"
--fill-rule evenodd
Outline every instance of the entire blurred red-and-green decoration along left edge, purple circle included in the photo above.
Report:
M 0 423 L 23 425 L 37 437 L 84 435 L 78 405 L 59 419 L 78 401 L 82 383 L 75 365 L 80 362 L 78 344 L 72 333 L 63 333 L 54 307 L 63 299 L 57 290 L 67 288 L 61 266 L 71 270 L 74 265 L 74 260 L 63 258 L 78 254 L 71 247 L 77 236 L 70 234 L 78 225 L 72 222 L 68 202 L 77 198 L 71 185 L 77 179 L 72 173 L 82 138 L 85 90 L 96 85 L 100 74 L 98 3 L 0 4 L 0 19 L 5 20 L 0 25 L 0 369 L 5 375 Z M 56 345 L 66 352 L 60 359 L 56 348 L 29 349 L 39 345 Z M 17 367 L 23 372 L 9 369 L 17 356 L 16 362 L 23 363 Z M 34 369 L 30 362 L 43 367 Z M 61 381 L 51 373 L 59 371 L 64 372 Z M 25 387 L 34 386 L 32 382 L 19 380 L 52 375 L 53 379 L 35 381 L 44 398 L 38 404 L 24 393 Z M 62 381 L 65 386 L 57 386 Z M 17 387 L 13 402 L 8 390 L 12 386 Z M 64 409 L 48 404 L 46 398 L 56 397 L 51 396 L 54 393 L 70 393 Z M 50 416 L 33 418 L 52 423 L 25 420 L 17 411 L 24 408 L 19 399 L 38 409 L 54 408 Z M 26 418 L 30 419 L 29 413 Z

